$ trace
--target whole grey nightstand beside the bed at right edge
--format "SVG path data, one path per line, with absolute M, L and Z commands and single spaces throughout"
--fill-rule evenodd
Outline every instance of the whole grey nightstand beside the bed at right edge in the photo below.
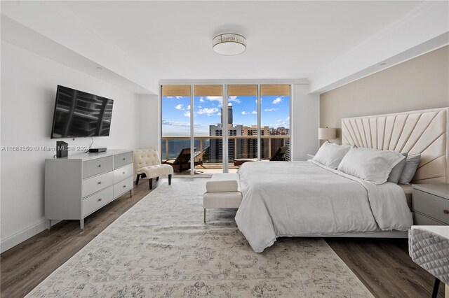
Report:
M 414 184 L 415 225 L 449 225 L 449 184 Z

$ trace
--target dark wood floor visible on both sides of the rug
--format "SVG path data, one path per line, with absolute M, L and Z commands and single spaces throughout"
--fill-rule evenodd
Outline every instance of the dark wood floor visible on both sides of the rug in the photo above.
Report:
M 154 186 L 162 183 L 159 180 Z M 175 182 L 175 181 L 174 181 Z M 149 193 L 147 180 L 106 208 L 78 220 L 65 220 L 0 255 L 1 297 L 23 297 L 64 264 L 121 214 Z M 434 278 L 408 257 L 406 239 L 326 239 L 375 297 L 431 297 Z M 438 297 L 443 297 L 444 285 Z

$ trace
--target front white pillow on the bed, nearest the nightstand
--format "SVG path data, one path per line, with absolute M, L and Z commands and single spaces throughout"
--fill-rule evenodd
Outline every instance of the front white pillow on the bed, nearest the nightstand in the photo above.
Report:
M 405 158 L 394 151 L 351 148 L 340 162 L 338 171 L 380 185 L 387 182 L 391 169 Z

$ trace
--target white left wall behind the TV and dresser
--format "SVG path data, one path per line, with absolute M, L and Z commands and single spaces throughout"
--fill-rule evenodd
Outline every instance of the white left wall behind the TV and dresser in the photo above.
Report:
M 132 92 L 1 42 L 1 146 L 49 146 L 55 92 L 65 85 L 114 99 L 110 136 L 94 138 L 94 147 L 138 148 L 139 99 Z M 90 138 L 64 139 L 89 146 Z M 44 159 L 55 152 L 1 152 L 1 251 L 45 229 Z

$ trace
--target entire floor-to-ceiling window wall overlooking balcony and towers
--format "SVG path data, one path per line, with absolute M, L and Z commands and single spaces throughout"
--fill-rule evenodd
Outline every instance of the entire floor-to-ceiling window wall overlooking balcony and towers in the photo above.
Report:
M 178 175 L 290 160 L 290 85 L 162 85 L 161 159 Z

